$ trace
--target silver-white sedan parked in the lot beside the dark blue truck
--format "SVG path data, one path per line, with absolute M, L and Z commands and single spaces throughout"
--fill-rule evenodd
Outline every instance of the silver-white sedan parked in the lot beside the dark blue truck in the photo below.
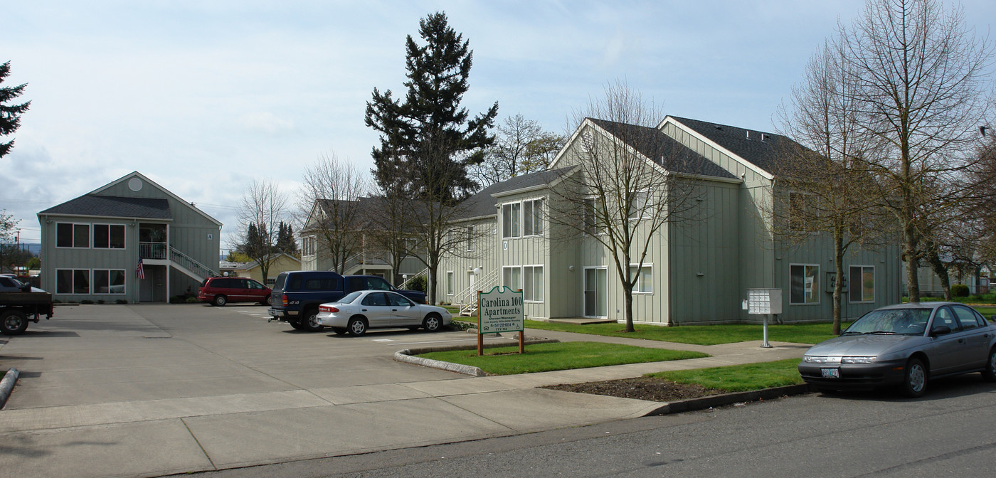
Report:
M 441 307 L 416 304 L 389 291 L 357 291 L 339 302 L 322 304 L 318 321 L 337 334 L 362 336 L 368 329 L 408 328 L 438 331 L 452 321 L 449 311 Z

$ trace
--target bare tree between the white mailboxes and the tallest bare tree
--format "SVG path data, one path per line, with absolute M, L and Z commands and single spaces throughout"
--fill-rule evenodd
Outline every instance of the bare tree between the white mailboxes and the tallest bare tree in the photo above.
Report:
M 844 258 L 855 244 L 875 247 L 887 234 L 873 196 L 874 177 L 864 158 L 877 153 L 876 142 L 861 134 L 855 85 L 841 42 L 827 42 L 806 67 L 803 82 L 792 90 L 791 108 L 780 109 L 785 144 L 778 164 L 783 190 L 775 195 L 773 215 L 778 237 L 801 245 L 813 233 L 833 241 L 834 334 L 841 333 Z M 852 287 L 858 287 L 857 284 Z

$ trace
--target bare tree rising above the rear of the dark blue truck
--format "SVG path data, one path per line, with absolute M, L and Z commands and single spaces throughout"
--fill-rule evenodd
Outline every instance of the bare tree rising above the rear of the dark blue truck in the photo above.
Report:
M 332 269 L 343 274 L 347 262 L 360 251 L 364 221 L 360 198 L 370 193 L 370 180 L 353 164 L 325 154 L 305 169 L 304 186 L 299 229 L 315 235 L 316 254 L 328 254 Z

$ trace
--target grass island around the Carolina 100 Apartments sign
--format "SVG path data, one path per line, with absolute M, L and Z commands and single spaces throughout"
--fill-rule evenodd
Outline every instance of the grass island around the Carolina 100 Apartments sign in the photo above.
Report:
M 518 346 L 485 349 L 484 354 L 478 357 L 476 350 L 450 351 L 422 354 L 418 357 L 477 366 L 495 375 L 709 357 L 707 354 L 697 352 L 645 349 L 594 342 L 536 344 L 526 346 L 524 355 L 519 354 Z

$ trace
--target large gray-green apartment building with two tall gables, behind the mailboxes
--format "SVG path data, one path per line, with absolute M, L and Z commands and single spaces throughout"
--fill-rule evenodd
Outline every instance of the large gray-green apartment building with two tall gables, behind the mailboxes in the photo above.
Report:
M 472 313 L 477 291 L 507 286 L 523 291 L 525 315 L 541 320 L 601 318 L 624 320 L 624 293 L 611 254 L 594 237 L 597 227 L 550 220 L 551 201 L 560 200 L 562 178 L 574 171 L 589 139 L 621 144 L 645 161 L 659 158 L 641 152 L 645 143 L 626 143 L 619 134 L 640 128 L 586 119 L 558 153 L 550 169 L 492 184 L 464 204 L 464 215 L 451 223 L 466 233 L 466 246 L 446 255 L 439 265 L 437 296 Z M 701 191 L 696 197 L 702 219 L 666 224 L 649 237 L 649 250 L 633 292 L 636 323 L 675 326 L 757 322 L 742 308 L 747 290 L 782 290 L 785 322 L 826 321 L 833 312 L 834 253 L 824 234 L 801 246 L 780 240 L 770 209 L 789 190 L 774 172 L 791 139 L 756 130 L 696 119 L 667 117 L 639 137 L 660 141 L 688 158 L 685 170 L 667 170 Z M 596 142 L 598 143 L 598 142 Z M 661 168 L 663 166 L 661 165 Z M 573 187 L 573 186 L 572 186 Z M 581 219 L 579 219 L 580 221 Z M 640 240 L 645 233 L 636 231 Z M 637 241 L 639 242 L 639 241 Z M 465 250 L 464 250 L 465 249 Z M 843 299 L 843 317 L 857 318 L 900 301 L 898 247 L 880 251 L 853 248 L 844 271 L 851 287 Z M 636 264 L 629 264 L 635 273 Z

